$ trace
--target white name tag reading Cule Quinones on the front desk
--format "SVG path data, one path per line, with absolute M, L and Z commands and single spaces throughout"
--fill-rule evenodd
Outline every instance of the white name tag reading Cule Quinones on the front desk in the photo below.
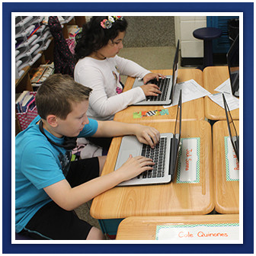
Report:
M 156 240 L 238 240 L 238 223 L 157 226 Z

